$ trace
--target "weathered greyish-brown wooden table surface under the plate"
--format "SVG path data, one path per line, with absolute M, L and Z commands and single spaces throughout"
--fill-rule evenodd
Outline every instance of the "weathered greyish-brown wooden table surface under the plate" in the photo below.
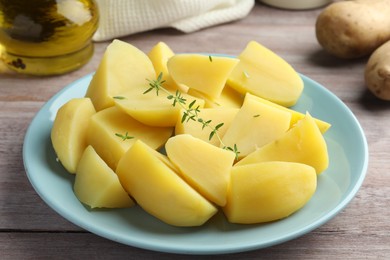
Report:
M 175 52 L 232 55 L 237 55 L 248 41 L 256 40 L 336 94 L 365 130 L 370 151 L 367 176 L 356 197 L 339 215 L 295 240 L 226 255 L 224 259 L 385 259 L 390 256 L 390 131 L 387 129 L 390 129 L 390 102 L 379 101 L 366 90 L 363 80 L 366 58 L 344 61 L 322 51 L 314 33 L 320 11 L 286 11 L 256 4 L 243 20 L 192 34 L 162 29 L 122 38 L 144 51 L 164 41 Z M 122 245 L 82 230 L 49 208 L 26 177 L 22 147 L 32 118 L 64 86 L 93 72 L 108 44 L 97 43 L 95 54 L 86 66 L 62 76 L 26 77 L 1 69 L 0 259 L 183 258 Z M 205 258 L 215 257 L 218 256 Z

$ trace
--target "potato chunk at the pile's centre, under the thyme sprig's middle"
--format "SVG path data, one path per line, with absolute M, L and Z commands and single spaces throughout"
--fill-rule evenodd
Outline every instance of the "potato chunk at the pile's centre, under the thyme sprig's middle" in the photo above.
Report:
M 239 111 L 238 108 L 205 108 L 205 109 L 200 109 L 198 116 L 199 118 L 202 118 L 204 121 L 211 120 L 210 123 L 211 127 L 216 127 L 218 124 L 223 123 L 223 126 L 221 126 L 218 129 L 218 135 L 222 138 L 226 133 L 226 130 L 229 128 L 234 117 L 237 115 L 238 111 Z M 200 124 L 198 121 L 193 121 L 193 120 L 184 121 L 184 122 L 178 120 L 175 126 L 176 135 L 190 134 L 196 138 L 199 138 L 203 141 L 206 141 L 210 144 L 219 147 L 221 142 L 216 135 L 214 135 L 210 139 L 211 131 L 212 129 L 208 127 L 203 128 L 202 124 Z

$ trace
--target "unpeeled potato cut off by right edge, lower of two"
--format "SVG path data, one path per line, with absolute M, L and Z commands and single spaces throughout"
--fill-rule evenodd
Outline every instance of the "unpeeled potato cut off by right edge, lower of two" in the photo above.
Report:
M 376 97 L 390 101 L 390 41 L 370 56 L 364 77 L 368 89 Z

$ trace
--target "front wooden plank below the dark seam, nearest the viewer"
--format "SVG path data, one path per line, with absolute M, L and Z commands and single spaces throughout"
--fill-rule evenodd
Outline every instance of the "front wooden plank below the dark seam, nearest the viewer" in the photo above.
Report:
M 337 238 L 335 238 L 337 235 Z M 361 239 L 365 236 L 365 239 Z M 348 244 L 346 242 L 348 241 Z M 368 246 L 369 245 L 369 246 Z M 0 233 L 1 258 L 6 259 L 199 259 L 144 250 L 90 233 Z M 319 230 L 273 247 L 202 259 L 386 259 L 390 237 L 340 230 Z

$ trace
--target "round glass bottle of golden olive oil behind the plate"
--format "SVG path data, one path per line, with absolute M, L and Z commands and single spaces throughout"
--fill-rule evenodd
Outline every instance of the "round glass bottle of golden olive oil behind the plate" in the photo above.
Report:
M 1 58 L 24 74 L 66 73 L 91 58 L 97 26 L 93 0 L 0 0 Z

